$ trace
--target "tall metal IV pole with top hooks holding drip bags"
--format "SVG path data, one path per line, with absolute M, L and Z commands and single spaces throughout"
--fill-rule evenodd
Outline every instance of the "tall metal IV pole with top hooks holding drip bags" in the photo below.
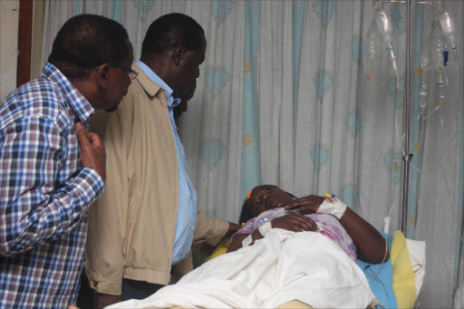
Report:
M 375 10 L 380 10 L 375 3 L 379 0 L 373 0 L 372 6 Z M 410 186 L 410 163 L 412 154 L 410 153 L 410 87 L 411 87 L 411 68 L 410 68 L 410 43 L 411 43 L 411 4 L 415 5 L 431 5 L 434 6 L 430 1 L 413 1 L 413 0 L 384 0 L 382 7 L 386 3 L 399 3 L 407 5 L 407 16 L 406 16 L 406 89 L 405 89 L 405 126 L 406 130 L 404 133 L 404 154 L 403 154 L 403 181 L 402 181 L 402 207 L 401 207 L 401 232 L 406 236 L 406 229 L 408 227 L 408 204 L 409 204 L 409 186 Z M 441 2 L 438 2 L 438 5 L 441 6 L 443 10 L 444 6 Z

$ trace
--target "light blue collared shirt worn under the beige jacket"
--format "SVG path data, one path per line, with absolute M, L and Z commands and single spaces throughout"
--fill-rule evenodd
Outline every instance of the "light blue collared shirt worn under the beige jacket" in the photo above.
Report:
M 179 174 L 179 206 L 178 219 L 176 223 L 176 235 L 174 237 L 174 248 L 172 250 L 172 265 L 179 263 L 185 259 L 190 251 L 190 246 L 193 241 L 195 225 L 197 224 L 197 191 L 189 179 L 187 173 L 187 159 L 185 156 L 184 147 L 179 140 L 178 130 L 174 122 L 173 108 L 180 103 L 180 99 L 172 97 L 172 89 L 169 85 L 160 79 L 145 63 L 136 61 L 140 69 L 143 70 L 150 80 L 156 82 L 166 92 L 168 100 L 169 119 L 171 124 L 174 140 L 176 141 L 176 153 L 178 157 L 178 174 Z

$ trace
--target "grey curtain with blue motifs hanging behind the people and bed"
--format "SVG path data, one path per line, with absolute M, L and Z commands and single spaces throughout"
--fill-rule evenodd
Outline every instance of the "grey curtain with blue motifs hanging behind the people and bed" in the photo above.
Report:
M 464 3 L 442 3 L 454 17 L 464 59 Z M 189 14 L 203 26 L 206 61 L 179 129 L 198 208 L 209 215 L 237 221 L 249 190 L 266 183 L 296 196 L 334 193 L 374 227 L 383 229 L 383 218 L 391 216 L 391 231 L 401 228 L 405 4 L 382 8 L 394 26 L 396 71 L 382 39 L 373 45 L 369 40 L 376 13 L 372 1 L 50 0 L 45 5 L 43 61 L 56 32 L 74 14 L 121 22 L 136 59 L 148 26 L 162 14 Z M 413 156 L 406 236 L 427 243 L 418 307 L 449 308 L 456 287 L 464 285 L 464 72 L 449 55 L 445 101 L 435 66 L 428 80 L 421 80 L 420 54 L 436 16 L 430 5 L 411 5 L 411 18 Z M 370 58 L 372 51 L 376 57 Z M 427 95 L 420 95 L 420 82 L 426 82 Z

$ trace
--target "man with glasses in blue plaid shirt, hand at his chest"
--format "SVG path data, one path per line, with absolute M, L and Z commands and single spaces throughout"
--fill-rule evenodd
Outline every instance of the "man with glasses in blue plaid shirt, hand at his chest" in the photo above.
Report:
M 93 109 L 116 110 L 131 78 L 121 24 L 77 15 L 63 24 L 43 76 L 0 103 L 0 307 L 75 304 L 89 205 L 106 154 L 87 132 Z

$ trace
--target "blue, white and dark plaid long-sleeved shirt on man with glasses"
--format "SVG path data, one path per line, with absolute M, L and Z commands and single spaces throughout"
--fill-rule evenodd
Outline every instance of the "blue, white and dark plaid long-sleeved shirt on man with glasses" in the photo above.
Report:
M 0 103 L 0 307 L 75 304 L 87 214 L 102 178 L 81 168 L 74 123 L 93 109 L 52 64 Z

